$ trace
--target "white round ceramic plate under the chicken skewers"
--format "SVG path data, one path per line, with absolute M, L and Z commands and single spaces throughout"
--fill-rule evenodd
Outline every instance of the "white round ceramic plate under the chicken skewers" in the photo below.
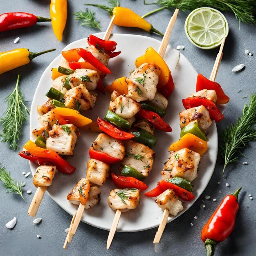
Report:
M 101 38 L 103 37 L 103 33 L 96 35 Z M 146 48 L 152 46 L 157 50 L 160 45 L 160 41 L 156 39 L 137 35 L 114 34 L 112 35 L 111 40 L 115 40 L 118 43 L 117 50 L 120 50 L 121 54 L 110 60 L 109 68 L 112 71 L 112 74 L 103 79 L 103 83 L 105 85 L 109 85 L 118 77 L 128 76 L 129 72 L 135 69 L 135 59 L 144 54 Z M 67 50 L 86 46 L 87 41 L 86 38 L 84 38 L 67 45 L 67 47 L 64 49 Z M 156 159 L 149 177 L 147 177 L 145 180 L 145 183 L 149 186 L 149 189 L 153 189 L 157 181 L 161 180 L 161 170 L 164 166 L 163 163 L 166 162 L 169 156 L 168 146 L 180 138 L 178 113 L 184 110 L 184 107 L 182 106 L 182 99 L 189 97 L 191 93 L 195 92 L 195 83 L 198 73 L 182 54 L 180 54 L 180 61 L 177 64 L 178 56 L 179 52 L 168 46 L 164 59 L 172 71 L 173 80 L 175 81 L 175 90 L 169 100 L 167 114 L 164 116 L 164 120 L 171 125 L 173 132 L 166 133 L 156 131 L 155 133 L 157 143 L 153 149 L 156 154 Z M 54 59 L 54 61 L 52 61 L 38 83 L 31 105 L 30 131 L 32 131 L 34 128 L 40 127 L 36 106 L 38 104 L 45 103 L 47 100 L 45 93 L 49 87 L 52 86 L 51 68 L 58 67 L 61 58 L 62 56 L 59 55 Z M 176 64 L 177 67 L 175 68 Z M 93 120 L 96 120 L 97 116 L 103 118 L 108 109 L 109 101 L 109 94 L 106 94 L 105 96 L 99 94 L 99 100 L 97 101 L 95 108 L 92 111 L 88 111 L 86 115 Z M 81 132 L 81 137 L 78 139 L 75 148 L 75 156 L 68 159 L 72 165 L 76 166 L 75 173 L 72 175 L 64 175 L 63 173 L 58 172 L 54 177 L 52 186 L 47 189 L 50 197 L 71 215 L 74 214 L 77 206 L 68 202 L 66 195 L 71 191 L 79 179 L 85 177 L 86 163 L 89 158 L 89 148 L 97 135 L 98 134 L 95 132 Z M 209 143 L 207 153 L 205 153 L 201 158 L 198 177 L 193 182 L 193 194 L 195 195 L 195 200 L 198 199 L 206 188 L 216 163 L 218 136 L 214 122 L 209 130 L 208 138 Z M 31 140 L 35 140 L 32 135 Z M 30 165 L 32 173 L 34 174 L 37 166 L 33 163 Z M 115 216 L 115 211 L 112 211 L 108 207 L 107 198 L 110 189 L 114 188 L 115 185 L 112 183 L 112 181 L 107 180 L 103 187 L 101 187 L 100 203 L 95 207 L 84 211 L 82 217 L 83 222 L 101 229 L 110 229 L 112 220 Z M 144 196 L 143 193 L 140 194 L 140 204 L 137 209 L 121 214 L 121 219 L 117 228 L 118 231 L 141 231 L 151 229 L 159 225 L 162 217 L 162 211 L 155 204 L 155 198 L 148 198 Z M 189 209 L 195 200 L 191 202 L 183 202 L 184 210 L 178 213 L 176 217 L 169 216 L 168 222 L 179 217 L 182 213 L 184 213 L 184 211 Z M 70 220 L 71 219 L 68 219 L 67 222 L 70 222 Z

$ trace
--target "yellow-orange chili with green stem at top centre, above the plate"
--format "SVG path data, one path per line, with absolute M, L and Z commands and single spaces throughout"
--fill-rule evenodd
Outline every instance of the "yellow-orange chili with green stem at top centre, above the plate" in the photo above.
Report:
M 146 20 L 141 18 L 137 13 L 133 12 L 131 9 L 117 6 L 117 7 L 114 7 L 113 9 L 113 15 L 115 15 L 115 20 L 114 20 L 115 25 L 118 25 L 121 27 L 138 27 L 150 33 L 155 32 L 161 36 L 164 35 L 158 30 L 156 30 Z

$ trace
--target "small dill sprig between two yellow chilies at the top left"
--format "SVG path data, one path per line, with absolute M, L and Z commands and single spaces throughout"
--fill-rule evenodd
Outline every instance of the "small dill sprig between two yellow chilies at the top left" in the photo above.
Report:
M 80 20 L 81 26 L 87 26 L 94 29 L 101 30 L 101 23 L 99 20 L 96 20 L 95 18 L 95 12 L 88 10 L 88 8 L 85 9 L 85 11 L 79 10 L 78 12 L 73 13 L 76 20 Z

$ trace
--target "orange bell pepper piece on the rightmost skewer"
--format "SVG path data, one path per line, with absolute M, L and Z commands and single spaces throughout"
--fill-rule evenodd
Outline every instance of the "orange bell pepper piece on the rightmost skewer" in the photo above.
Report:
M 207 151 L 207 142 L 193 135 L 192 133 L 187 133 L 180 140 L 174 142 L 169 147 L 170 151 L 177 151 L 182 148 L 189 148 L 192 151 L 203 155 Z

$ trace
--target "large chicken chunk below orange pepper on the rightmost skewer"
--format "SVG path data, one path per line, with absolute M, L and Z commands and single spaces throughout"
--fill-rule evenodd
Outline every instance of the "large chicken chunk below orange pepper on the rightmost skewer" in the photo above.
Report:
M 162 176 L 164 180 L 171 177 L 181 177 L 192 182 L 198 176 L 198 164 L 200 162 L 200 154 L 182 148 L 181 150 L 171 152 L 164 169 Z

